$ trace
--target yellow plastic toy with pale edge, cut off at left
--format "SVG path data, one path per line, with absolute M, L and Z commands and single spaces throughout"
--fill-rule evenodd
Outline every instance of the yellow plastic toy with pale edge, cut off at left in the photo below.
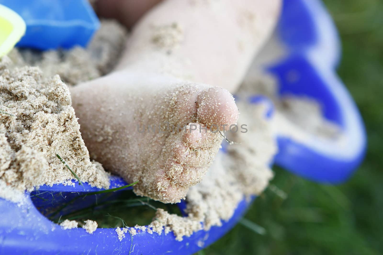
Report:
M 0 57 L 15 47 L 25 34 L 24 20 L 10 8 L 0 5 Z

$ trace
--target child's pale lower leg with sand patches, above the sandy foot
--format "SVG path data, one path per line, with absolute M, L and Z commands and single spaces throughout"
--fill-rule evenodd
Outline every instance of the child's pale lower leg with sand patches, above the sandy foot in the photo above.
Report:
M 139 65 L 236 91 L 270 36 L 280 0 L 167 0 L 134 27 L 119 68 Z

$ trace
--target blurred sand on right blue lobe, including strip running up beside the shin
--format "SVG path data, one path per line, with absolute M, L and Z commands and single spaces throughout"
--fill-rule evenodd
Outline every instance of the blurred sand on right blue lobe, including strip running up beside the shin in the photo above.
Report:
M 278 134 L 291 137 L 293 140 L 304 142 L 309 137 L 341 141 L 341 128 L 324 117 L 323 106 L 312 97 L 303 95 L 278 93 L 279 85 L 275 76 L 265 71 L 265 67 L 285 59 L 290 51 L 280 41 L 275 31 L 259 55 L 254 59 L 249 71 L 242 82 L 240 97 L 249 95 L 264 95 L 272 100 L 275 106 L 273 122 Z M 300 74 L 292 70 L 288 73 L 291 82 L 299 79 Z

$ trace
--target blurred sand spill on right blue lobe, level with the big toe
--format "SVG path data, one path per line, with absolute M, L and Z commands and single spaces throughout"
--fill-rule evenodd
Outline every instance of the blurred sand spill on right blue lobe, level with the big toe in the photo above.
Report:
M 308 96 L 278 95 L 278 81 L 274 76 L 252 67 L 237 95 L 267 96 L 275 106 L 276 132 L 302 140 L 307 135 L 336 140 L 342 136 L 341 128 L 324 117 L 321 104 Z

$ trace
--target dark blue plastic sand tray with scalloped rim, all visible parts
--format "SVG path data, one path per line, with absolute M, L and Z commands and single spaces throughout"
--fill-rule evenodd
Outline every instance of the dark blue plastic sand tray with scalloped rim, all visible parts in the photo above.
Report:
M 343 181 L 362 160 L 366 138 L 358 110 L 335 72 L 340 58 L 336 29 L 319 0 L 285 0 L 279 27 L 280 38 L 290 54 L 281 62 L 269 66 L 268 70 L 278 77 L 280 93 L 305 94 L 316 98 L 323 104 L 326 117 L 343 128 L 345 144 L 340 146 L 322 140 L 302 144 L 280 136 L 280 152 L 275 162 L 312 180 Z M 285 80 L 285 74 L 290 70 L 300 73 L 301 78 L 294 84 Z M 267 102 L 255 96 L 249 100 L 253 103 Z M 265 117 L 270 117 L 272 112 L 270 104 Z M 118 177 L 111 177 L 111 183 L 111 188 L 125 184 Z M 49 214 L 51 208 L 59 208 L 63 203 L 78 199 L 82 193 L 96 190 L 87 184 L 84 187 L 43 186 L 39 188 L 39 197 L 48 198 L 49 195 L 49 201 L 31 196 L 35 200 L 33 204 L 27 194 L 29 207 L 18 207 L 0 199 L 0 254 L 193 254 L 229 231 L 249 206 L 243 200 L 234 216 L 223 222 L 221 227 L 198 231 L 182 242 L 175 240 L 172 233 L 157 235 L 139 232 L 133 238 L 128 235 L 120 242 L 112 228 L 97 229 L 92 235 L 81 228 L 63 230 L 36 209 L 39 207 Z M 90 195 L 87 200 L 77 203 L 77 209 L 93 203 L 96 196 Z M 179 206 L 185 208 L 185 203 Z M 61 214 L 65 214 L 65 210 Z

